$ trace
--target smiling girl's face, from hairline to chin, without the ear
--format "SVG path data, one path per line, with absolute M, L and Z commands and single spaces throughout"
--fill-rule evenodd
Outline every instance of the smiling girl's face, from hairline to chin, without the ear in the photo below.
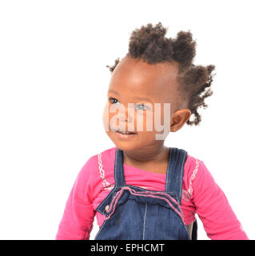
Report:
M 110 79 L 103 112 L 106 134 L 115 146 L 136 150 L 164 144 L 173 122 L 172 114 L 180 102 L 177 71 L 177 63 L 152 65 L 122 58 Z M 165 108 L 164 103 L 170 103 L 170 109 Z M 124 136 L 116 130 L 135 134 Z

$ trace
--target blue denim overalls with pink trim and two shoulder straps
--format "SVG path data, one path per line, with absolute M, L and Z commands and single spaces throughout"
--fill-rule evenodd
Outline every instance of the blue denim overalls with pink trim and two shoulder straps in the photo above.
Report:
M 186 158 L 185 150 L 170 147 L 165 191 L 145 190 L 126 185 L 123 151 L 117 148 L 115 186 L 97 208 L 106 218 L 95 240 L 189 240 L 181 212 Z

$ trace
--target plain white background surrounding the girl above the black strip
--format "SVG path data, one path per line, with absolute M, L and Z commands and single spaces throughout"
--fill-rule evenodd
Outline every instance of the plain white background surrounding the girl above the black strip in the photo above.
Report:
M 161 22 L 167 37 L 190 30 L 194 64 L 217 73 L 201 125 L 165 145 L 205 163 L 254 239 L 253 10 L 253 1 L 1 1 L 0 238 L 55 238 L 79 170 L 115 146 L 102 126 L 106 65 L 127 53 L 134 29 Z M 91 239 L 97 231 L 95 221 Z

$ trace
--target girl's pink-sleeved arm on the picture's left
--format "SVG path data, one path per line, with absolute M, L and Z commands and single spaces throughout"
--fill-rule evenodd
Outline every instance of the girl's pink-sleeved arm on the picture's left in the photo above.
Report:
M 66 202 L 56 240 L 89 240 L 93 228 L 93 170 L 91 157 L 80 170 Z

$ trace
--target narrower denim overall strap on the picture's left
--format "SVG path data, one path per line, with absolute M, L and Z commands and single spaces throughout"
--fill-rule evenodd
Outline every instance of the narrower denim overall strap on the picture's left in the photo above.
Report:
M 115 153 L 114 180 L 115 187 L 126 186 L 123 168 L 123 151 L 118 148 Z

